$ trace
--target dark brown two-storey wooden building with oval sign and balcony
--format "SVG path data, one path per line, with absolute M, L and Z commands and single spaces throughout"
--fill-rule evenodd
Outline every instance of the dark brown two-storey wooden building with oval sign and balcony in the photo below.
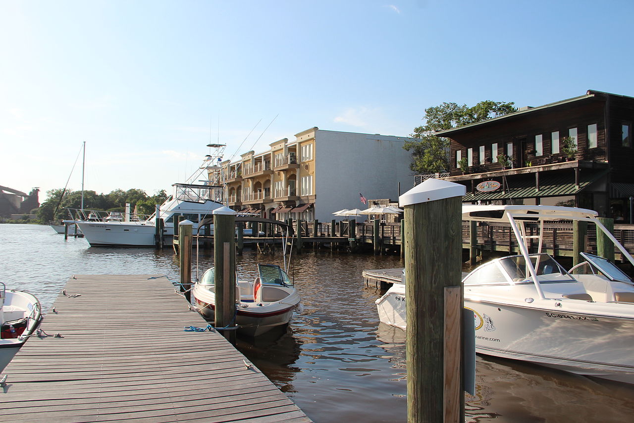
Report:
M 451 139 L 450 177 L 444 179 L 466 185 L 463 201 L 469 203 L 574 205 L 629 222 L 633 121 L 633 97 L 589 90 L 440 131 L 436 135 Z M 574 138 L 576 152 L 565 154 L 564 137 Z M 487 181 L 499 187 L 482 184 Z

